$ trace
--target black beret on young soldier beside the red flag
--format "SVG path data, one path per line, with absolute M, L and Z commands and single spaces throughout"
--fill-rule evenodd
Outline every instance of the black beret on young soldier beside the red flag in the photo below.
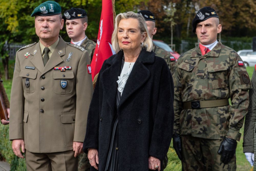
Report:
M 87 16 L 87 13 L 85 10 L 81 8 L 71 8 L 70 10 L 65 11 L 62 18 L 70 20 L 70 19 L 84 18 L 86 16 Z

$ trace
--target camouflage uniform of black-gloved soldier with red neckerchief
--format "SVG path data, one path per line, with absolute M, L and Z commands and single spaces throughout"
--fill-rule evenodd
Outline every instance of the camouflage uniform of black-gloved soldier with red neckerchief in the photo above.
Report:
M 182 147 L 183 158 L 185 158 L 182 163 L 185 170 L 188 169 L 186 163 L 195 166 L 194 169 L 190 167 L 188 170 L 200 170 L 200 167 L 199 169 L 196 167 L 201 164 L 206 167 L 203 170 L 223 170 L 226 166 L 224 167 L 220 161 L 221 155 L 217 154 L 217 148 L 225 137 L 240 140 L 241 133 L 239 130 L 247 113 L 249 104 L 247 89 L 251 88 L 251 82 L 245 66 L 239 66 L 238 61 L 242 61 L 240 56 L 233 49 L 222 45 L 221 42 L 218 42 L 209 53 L 203 56 L 199 46 L 197 46 L 178 59 L 173 74 L 173 134 L 181 134 L 184 143 Z M 231 106 L 183 109 L 184 102 L 229 98 L 231 99 Z M 190 138 L 186 138 L 185 135 L 189 135 Z M 202 149 L 198 152 L 195 151 L 196 144 L 201 143 L 203 146 L 203 144 L 212 144 L 213 141 L 215 147 L 208 145 L 209 154 L 206 154 L 207 152 L 202 153 Z M 186 145 L 188 142 L 190 144 Z M 213 151 L 210 152 L 210 148 L 215 148 L 214 153 Z M 194 154 L 197 162 L 189 159 L 192 154 L 189 156 L 187 153 Z M 210 158 L 209 155 L 212 157 Z M 207 158 L 212 160 L 211 165 L 207 166 L 207 163 L 202 163 L 204 160 L 200 156 L 208 156 Z M 234 158 L 227 166 L 233 170 L 236 168 Z M 214 163 L 218 167 L 215 165 L 213 167 Z

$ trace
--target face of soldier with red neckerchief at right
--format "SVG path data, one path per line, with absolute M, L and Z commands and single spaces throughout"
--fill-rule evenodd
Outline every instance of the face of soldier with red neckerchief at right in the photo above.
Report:
M 216 17 L 209 18 L 197 24 L 196 34 L 202 45 L 208 45 L 217 40 L 217 34 L 221 32 L 221 24 L 217 24 Z

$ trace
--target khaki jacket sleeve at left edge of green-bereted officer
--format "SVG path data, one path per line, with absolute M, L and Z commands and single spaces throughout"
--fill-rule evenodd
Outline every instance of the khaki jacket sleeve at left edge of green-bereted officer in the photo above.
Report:
M 23 114 L 24 114 L 24 91 L 20 73 L 20 61 L 16 53 L 15 69 L 13 73 L 11 104 L 10 104 L 10 127 L 9 139 L 23 139 Z

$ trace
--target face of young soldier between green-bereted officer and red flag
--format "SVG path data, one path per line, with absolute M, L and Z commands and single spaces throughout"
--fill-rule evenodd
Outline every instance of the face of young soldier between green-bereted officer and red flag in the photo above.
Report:
M 86 28 L 87 23 L 83 24 L 81 18 L 66 20 L 67 33 L 69 38 L 71 38 L 74 42 L 80 41 L 80 39 L 83 38 Z

